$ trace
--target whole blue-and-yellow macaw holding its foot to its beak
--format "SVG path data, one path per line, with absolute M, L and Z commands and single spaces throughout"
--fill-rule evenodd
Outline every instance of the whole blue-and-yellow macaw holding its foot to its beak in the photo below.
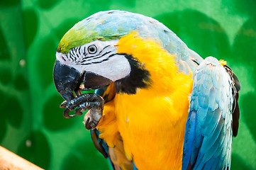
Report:
M 56 57 L 65 117 L 89 110 L 86 128 L 113 169 L 230 169 L 240 82 L 226 62 L 203 60 L 162 23 L 127 11 L 80 21 Z

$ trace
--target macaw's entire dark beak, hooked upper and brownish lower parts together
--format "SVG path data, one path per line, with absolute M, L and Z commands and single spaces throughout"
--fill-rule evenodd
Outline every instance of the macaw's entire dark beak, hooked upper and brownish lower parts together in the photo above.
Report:
M 111 79 L 93 72 L 79 72 L 73 67 L 62 64 L 59 60 L 55 61 L 53 79 L 57 91 L 66 101 L 75 98 L 74 93 L 78 94 L 77 91 L 99 89 L 112 82 Z M 82 83 L 83 86 L 81 89 L 80 85 Z

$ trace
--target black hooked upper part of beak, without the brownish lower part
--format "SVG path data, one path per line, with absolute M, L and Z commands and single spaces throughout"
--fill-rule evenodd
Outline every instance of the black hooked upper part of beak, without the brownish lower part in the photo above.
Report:
M 53 68 L 53 80 L 57 91 L 66 101 L 72 100 L 82 82 L 82 73 L 56 60 Z

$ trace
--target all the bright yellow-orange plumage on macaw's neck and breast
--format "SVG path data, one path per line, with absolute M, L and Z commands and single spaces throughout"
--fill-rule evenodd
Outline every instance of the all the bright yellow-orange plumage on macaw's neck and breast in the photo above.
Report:
M 191 75 L 178 72 L 174 57 L 150 39 L 130 33 L 118 52 L 132 55 L 150 73 L 149 86 L 136 94 L 116 94 L 104 106 L 98 129 L 109 147 L 119 134 L 128 159 L 138 169 L 181 169 Z

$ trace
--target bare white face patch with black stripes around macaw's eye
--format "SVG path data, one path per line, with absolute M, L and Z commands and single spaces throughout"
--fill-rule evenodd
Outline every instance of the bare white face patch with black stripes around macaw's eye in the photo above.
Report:
M 117 42 L 96 40 L 69 50 L 67 55 L 57 52 L 56 58 L 81 73 L 92 72 L 116 81 L 130 74 L 130 64 L 125 55 L 116 54 Z

